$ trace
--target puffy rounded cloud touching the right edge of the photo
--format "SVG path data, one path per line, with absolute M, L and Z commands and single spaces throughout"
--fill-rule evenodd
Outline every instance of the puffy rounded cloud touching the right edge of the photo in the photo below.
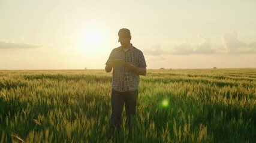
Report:
M 222 36 L 224 47 L 231 54 L 249 54 L 256 52 L 256 42 L 245 43 L 238 39 L 237 33 L 226 33 Z

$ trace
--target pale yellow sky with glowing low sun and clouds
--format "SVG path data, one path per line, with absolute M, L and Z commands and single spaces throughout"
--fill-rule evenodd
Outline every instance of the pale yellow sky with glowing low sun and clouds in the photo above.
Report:
M 0 0 L 0 70 L 104 69 L 131 30 L 147 69 L 256 68 L 255 0 Z

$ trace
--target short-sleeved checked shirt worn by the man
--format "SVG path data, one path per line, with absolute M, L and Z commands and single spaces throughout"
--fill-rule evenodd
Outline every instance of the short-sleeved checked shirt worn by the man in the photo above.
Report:
M 139 49 L 131 45 L 128 51 L 124 51 L 122 46 L 112 50 L 109 56 L 109 60 L 124 59 L 127 63 L 131 63 L 137 67 L 146 67 L 146 61 Z M 106 63 L 108 64 L 108 62 Z M 115 91 L 127 92 L 135 91 L 138 89 L 138 83 L 140 82 L 140 76 L 129 70 L 125 66 L 113 67 L 112 73 L 112 88 Z

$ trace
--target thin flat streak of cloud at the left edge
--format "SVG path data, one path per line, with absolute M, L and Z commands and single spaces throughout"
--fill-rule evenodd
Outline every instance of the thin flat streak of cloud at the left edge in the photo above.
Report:
M 0 49 L 4 48 L 37 48 L 42 45 L 33 45 L 31 43 L 16 43 L 0 40 Z

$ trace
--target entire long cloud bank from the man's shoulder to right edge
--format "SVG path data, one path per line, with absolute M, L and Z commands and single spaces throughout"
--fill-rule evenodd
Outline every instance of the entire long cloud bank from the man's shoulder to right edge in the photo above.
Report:
M 144 49 L 147 55 L 194 55 L 194 54 L 251 54 L 256 53 L 256 42 L 246 43 L 238 39 L 237 33 L 226 33 L 222 35 L 222 45 L 212 45 L 208 38 L 198 35 L 198 43 L 185 42 L 174 45 L 172 48 L 164 49 L 161 45 Z

